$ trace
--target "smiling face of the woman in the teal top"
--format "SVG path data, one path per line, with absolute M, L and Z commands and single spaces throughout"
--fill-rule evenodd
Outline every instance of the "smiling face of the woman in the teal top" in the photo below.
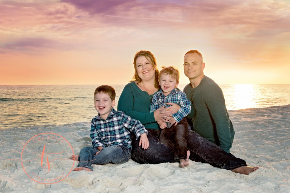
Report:
M 142 81 L 155 78 L 155 68 L 145 56 L 139 56 L 136 59 L 136 70 Z

